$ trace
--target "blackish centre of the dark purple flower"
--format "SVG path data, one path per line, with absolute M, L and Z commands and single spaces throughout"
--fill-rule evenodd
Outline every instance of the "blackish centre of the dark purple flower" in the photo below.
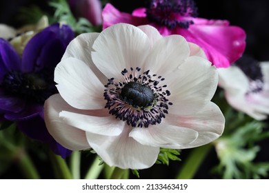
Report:
M 1 87 L 7 94 L 44 103 L 52 94 L 57 93 L 57 88 L 54 86 L 53 77 L 45 71 L 21 73 L 18 71 L 8 72 L 3 78 Z

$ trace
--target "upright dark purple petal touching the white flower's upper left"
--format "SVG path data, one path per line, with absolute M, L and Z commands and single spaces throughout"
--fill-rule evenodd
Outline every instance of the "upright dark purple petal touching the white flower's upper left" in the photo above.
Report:
M 23 51 L 21 72 L 37 72 L 45 65 L 54 68 L 73 38 L 74 32 L 69 26 L 60 26 L 56 23 L 45 28 L 32 37 L 26 45 Z

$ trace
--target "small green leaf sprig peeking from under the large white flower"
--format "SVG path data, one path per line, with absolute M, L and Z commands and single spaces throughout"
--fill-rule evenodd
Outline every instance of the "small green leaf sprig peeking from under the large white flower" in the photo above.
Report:
M 181 161 L 181 159 L 179 159 L 178 156 L 179 156 L 179 150 L 161 148 L 156 163 L 169 165 L 169 160 Z

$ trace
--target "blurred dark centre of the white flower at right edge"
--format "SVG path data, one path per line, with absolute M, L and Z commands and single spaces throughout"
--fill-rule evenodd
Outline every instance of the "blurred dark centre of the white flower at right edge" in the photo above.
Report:
M 263 90 L 263 73 L 261 72 L 259 61 L 243 55 L 243 57 L 237 60 L 236 65 L 246 74 L 250 81 L 249 92 L 260 92 Z

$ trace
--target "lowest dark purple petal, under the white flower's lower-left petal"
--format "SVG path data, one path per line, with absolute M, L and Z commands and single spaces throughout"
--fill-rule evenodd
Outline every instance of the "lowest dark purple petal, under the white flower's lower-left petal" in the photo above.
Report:
M 23 134 L 26 134 L 26 136 L 31 139 L 50 145 L 52 151 L 55 154 L 60 155 L 62 158 L 66 158 L 66 156 L 70 155 L 72 152 L 71 150 L 63 148 L 62 145 L 53 139 L 53 137 L 48 133 L 44 120 L 39 115 L 25 121 L 17 121 L 17 125 Z

